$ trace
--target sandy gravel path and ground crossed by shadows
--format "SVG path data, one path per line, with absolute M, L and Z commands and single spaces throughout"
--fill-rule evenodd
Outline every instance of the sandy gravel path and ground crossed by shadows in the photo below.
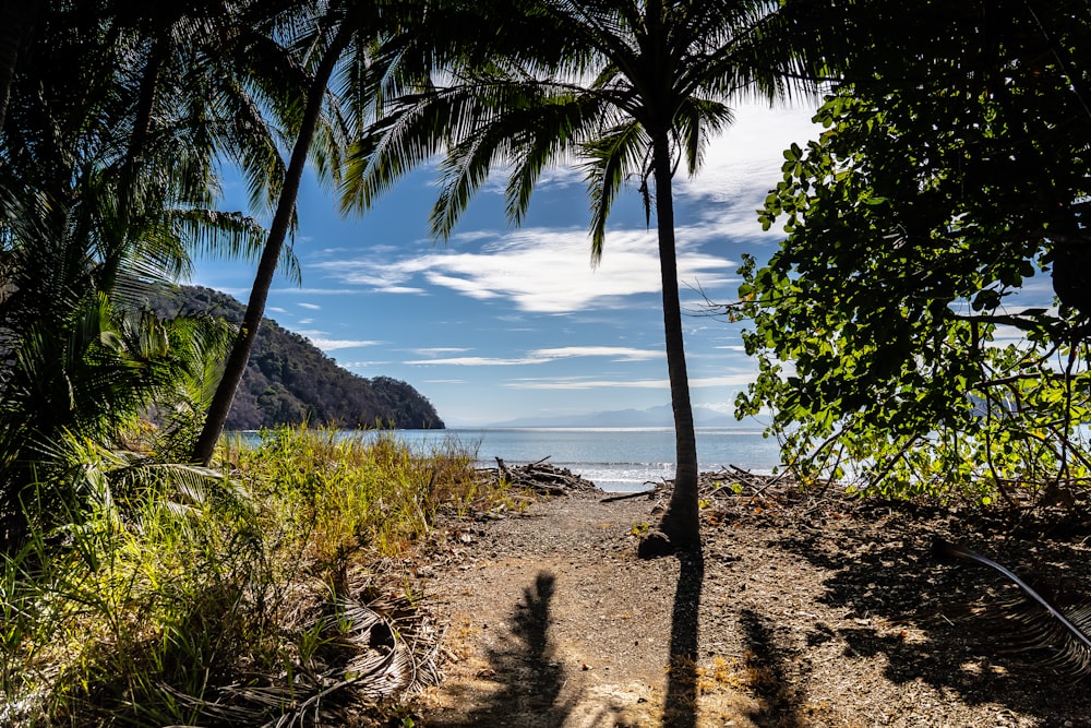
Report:
M 942 613 L 990 582 L 930 558 L 936 534 L 992 544 L 949 514 L 729 498 L 702 557 L 640 561 L 656 501 L 601 498 L 451 527 L 420 570 L 448 625 L 424 725 L 1091 727 L 1084 689 Z M 1076 536 L 996 546 L 1091 565 Z

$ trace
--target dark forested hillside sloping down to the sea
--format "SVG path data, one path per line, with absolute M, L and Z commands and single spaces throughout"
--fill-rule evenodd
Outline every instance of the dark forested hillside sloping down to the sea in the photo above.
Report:
M 218 290 L 197 286 L 159 290 L 149 301 L 159 315 L 212 313 L 231 323 L 242 320 L 243 305 Z M 432 403 L 409 384 L 346 371 L 304 337 L 266 319 L 227 428 L 252 430 L 304 420 L 346 428 L 443 429 Z

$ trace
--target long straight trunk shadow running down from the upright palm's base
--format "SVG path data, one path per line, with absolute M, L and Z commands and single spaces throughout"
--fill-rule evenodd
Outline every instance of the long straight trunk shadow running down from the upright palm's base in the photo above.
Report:
M 705 581 L 705 554 L 679 553 L 679 582 L 671 613 L 670 668 L 663 703 L 666 728 L 695 728 L 697 725 L 697 617 Z

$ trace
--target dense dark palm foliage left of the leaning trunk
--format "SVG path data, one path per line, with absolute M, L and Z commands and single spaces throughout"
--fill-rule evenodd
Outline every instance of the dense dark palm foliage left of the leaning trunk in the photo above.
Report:
M 214 41 L 196 10 L 44 3 L 17 15 L 3 28 L 17 52 L 0 55 L 0 548 L 28 521 L 67 524 L 103 496 L 71 467 L 73 446 L 123 447 L 149 405 L 192 401 L 225 330 L 159 320 L 144 293 L 193 250 L 254 250 L 253 220 L 212 211 L 217 151 L 257 188 L 278 159 L 206 62 Z

